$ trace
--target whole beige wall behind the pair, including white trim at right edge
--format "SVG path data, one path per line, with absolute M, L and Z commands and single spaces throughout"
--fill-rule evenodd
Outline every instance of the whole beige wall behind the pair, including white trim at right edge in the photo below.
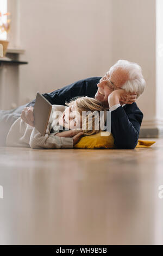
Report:
M 18 1 L 19 41 L 26 50 L 21 58 L 29 62 L 20 68 L 20 104 L 37 90 L 102 76 L 118 59 L 127 59 L 141 65 L 147 81 L 137 100 L 142 127 L 162 125 L 163 57 L 156 54 L 163 44 L 162 0 Z

